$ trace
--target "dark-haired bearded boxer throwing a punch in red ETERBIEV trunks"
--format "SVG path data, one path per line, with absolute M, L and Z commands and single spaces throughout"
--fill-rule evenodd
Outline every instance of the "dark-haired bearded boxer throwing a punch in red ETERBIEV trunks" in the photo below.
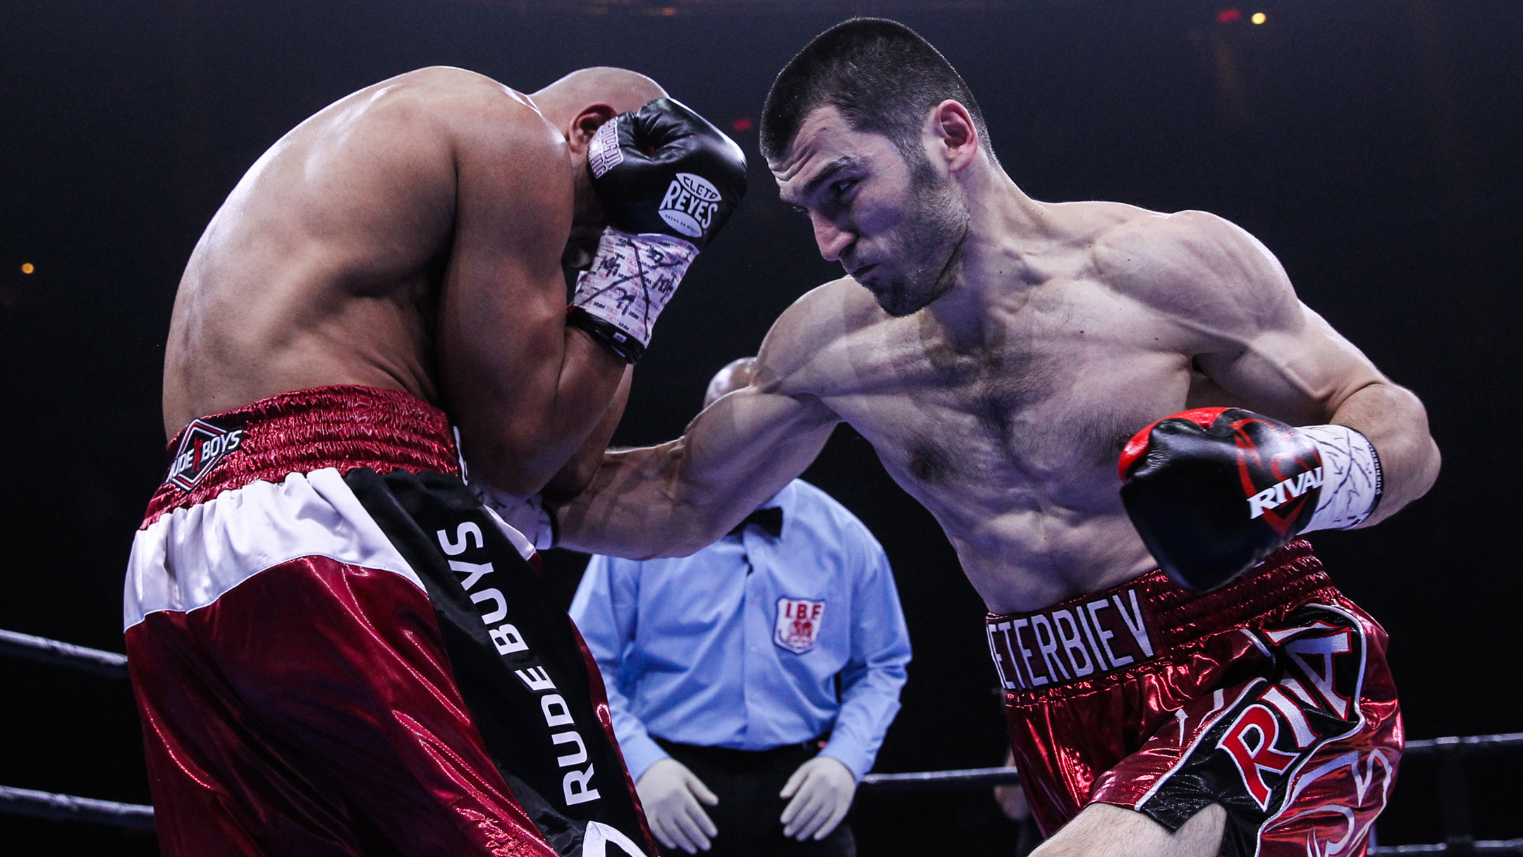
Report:
M 1429 489 L 1416 396 L 1231 223 L 1027 197 L 892 21 L 804 47 L 762 151 L 848 276 L 681 439 L 606 454 L 565 543 L 691 552 L 847 421 L 988 604 L 1045 855 L 1362 854 L 1401 755 L 1384 631 L 1293 537 Z

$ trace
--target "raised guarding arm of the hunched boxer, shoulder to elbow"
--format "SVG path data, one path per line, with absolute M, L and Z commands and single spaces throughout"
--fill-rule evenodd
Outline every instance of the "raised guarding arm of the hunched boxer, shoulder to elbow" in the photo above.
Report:
M 474 474 L 528 496 L 605 419 L 624 361 L 565 325 L 565 140 L 527 104 L 500 98 L 463 125 L 455 146 L 439 374 Z

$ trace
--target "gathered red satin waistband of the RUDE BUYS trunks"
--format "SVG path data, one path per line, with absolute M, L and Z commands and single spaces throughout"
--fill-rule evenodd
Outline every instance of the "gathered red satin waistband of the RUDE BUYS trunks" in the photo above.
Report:
M 193 419 L 168 445 L 169 468 L 143 526 L 250 482 L 289 473 L 369 467 L 460 471 L 443 410 L 401 390 L 330 386 L 292 390 Z

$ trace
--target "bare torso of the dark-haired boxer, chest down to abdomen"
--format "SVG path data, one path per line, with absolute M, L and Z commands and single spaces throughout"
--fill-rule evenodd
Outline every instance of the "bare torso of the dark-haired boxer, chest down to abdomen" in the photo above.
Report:
M 937 515 L 975 586 L 979 557 L 1094 566 L 1115 531 L 1135 541 L 1116 461 L 1135 432 L 1183 407 L 1189 360 L 1165 319 L 1083 276 L 988 313 L 981 337 L 921 311 L 844 339 L 842 395 L 825 403 Z

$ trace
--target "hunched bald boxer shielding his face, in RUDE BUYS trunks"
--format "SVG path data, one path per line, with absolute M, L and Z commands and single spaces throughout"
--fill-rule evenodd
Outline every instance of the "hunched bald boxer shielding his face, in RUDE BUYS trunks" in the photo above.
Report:
M 655 854 L 595 665 L 461 461 L 576 491 L 743 191 L 620 69 L 411 72 L 254 163 L 180 284 L 126 575 L 166 855 Z

